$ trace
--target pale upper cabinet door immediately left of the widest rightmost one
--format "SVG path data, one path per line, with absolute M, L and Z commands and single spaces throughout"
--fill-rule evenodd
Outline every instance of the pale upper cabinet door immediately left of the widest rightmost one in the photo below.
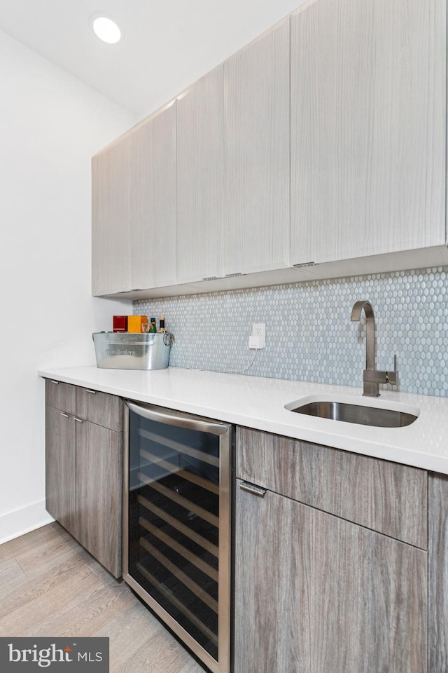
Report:
M 220 275 L 289 264 L 289 18 L 224 63 Z

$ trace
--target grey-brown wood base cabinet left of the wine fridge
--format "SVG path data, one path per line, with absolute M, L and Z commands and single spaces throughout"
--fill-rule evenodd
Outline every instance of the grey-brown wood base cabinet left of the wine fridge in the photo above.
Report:
M 121 575 L 121 423 L 120 398 L 46 381 L 47 511 L 115 577 Z

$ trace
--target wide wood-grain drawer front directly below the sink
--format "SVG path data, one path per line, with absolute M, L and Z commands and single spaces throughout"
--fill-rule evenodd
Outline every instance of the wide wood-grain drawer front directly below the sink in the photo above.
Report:
M 426 470 L 237 428 L 237 477 L 427 548 Z

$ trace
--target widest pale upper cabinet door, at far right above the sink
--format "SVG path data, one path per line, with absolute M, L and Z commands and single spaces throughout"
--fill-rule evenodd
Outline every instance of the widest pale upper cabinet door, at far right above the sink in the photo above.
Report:
M 291 16 L 291 262 L 445 242 L 445 0 Z

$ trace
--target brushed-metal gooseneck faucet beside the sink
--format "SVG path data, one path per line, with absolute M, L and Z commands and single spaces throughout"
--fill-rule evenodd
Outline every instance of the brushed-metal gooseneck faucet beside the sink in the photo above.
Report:
M 360 320 L 365 313 L 365 369 L 363 372 L 363 395 L 379 397 L 379 383 L 397 383 L 397 356 L 393 358 L 393 372 L 379 372 L 375 369 L 375 316 L 370 301 L 356 301 L 351 309 L 350 320 Z

